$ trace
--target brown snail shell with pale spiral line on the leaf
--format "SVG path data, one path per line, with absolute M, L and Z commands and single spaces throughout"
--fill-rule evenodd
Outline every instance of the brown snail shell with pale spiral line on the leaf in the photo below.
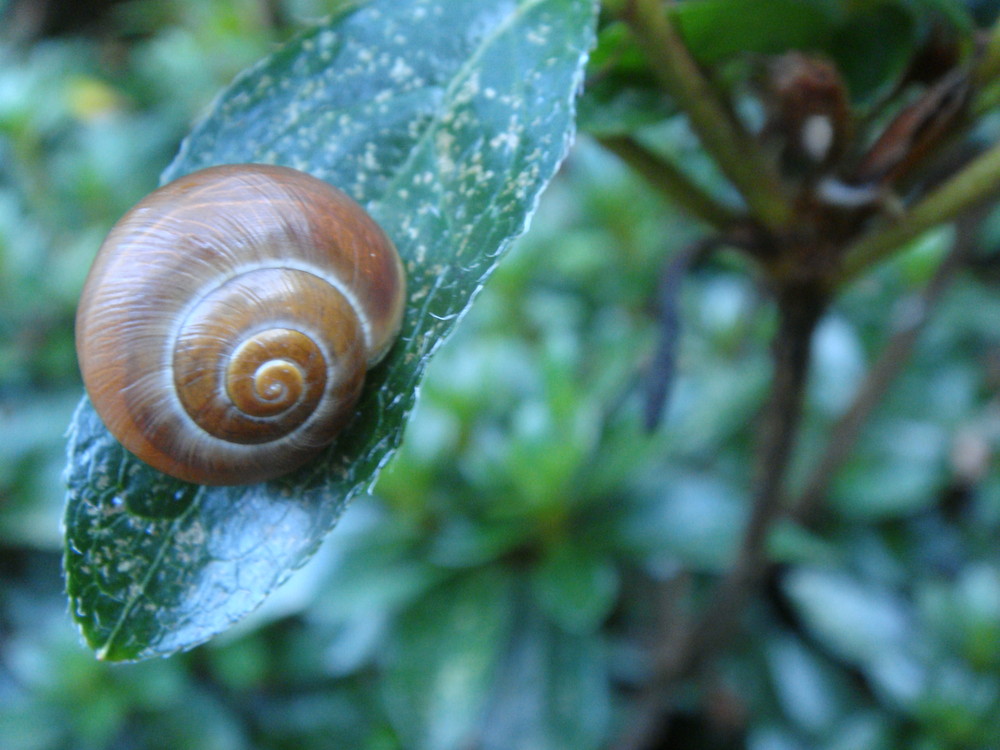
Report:
M 153 191 L 84 284 L 84 386 L 115 438 L 189 482 L 250 484 L 315 456 L 399 332 L 395 247 L 351 198 L 236 164 Z

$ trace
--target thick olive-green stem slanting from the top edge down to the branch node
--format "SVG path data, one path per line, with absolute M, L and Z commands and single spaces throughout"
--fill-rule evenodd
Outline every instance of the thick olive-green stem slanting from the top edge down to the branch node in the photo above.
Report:
M 792 207 L 777 173 L 716 95 L 662 0 L 615 0 L 607 7 L 629 25 L 653 73 L 688 115 L 702 144 L 753 215 L 772 230 L 788 226 Z

